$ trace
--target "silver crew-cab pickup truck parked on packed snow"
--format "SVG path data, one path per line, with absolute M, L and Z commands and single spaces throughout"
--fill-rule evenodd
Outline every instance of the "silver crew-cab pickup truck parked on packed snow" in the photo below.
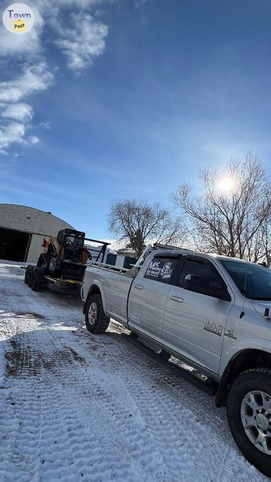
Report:
M 147 248 L 131 270 L 93 263 L 83 285 L 92 333 L 114 318 L 217 383 L 231 433 L 271 476 L 271 270 L 235 258 Z

